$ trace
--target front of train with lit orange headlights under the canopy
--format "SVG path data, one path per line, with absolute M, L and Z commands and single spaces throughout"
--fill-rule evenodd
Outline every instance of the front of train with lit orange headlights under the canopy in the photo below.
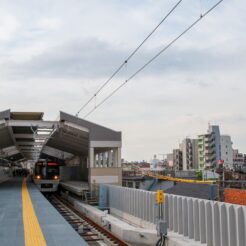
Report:
M 55 192 L 60 176 L 59 164 L 56 162 L 37 162 L 34 170 L 34 183 L 41 192 Z

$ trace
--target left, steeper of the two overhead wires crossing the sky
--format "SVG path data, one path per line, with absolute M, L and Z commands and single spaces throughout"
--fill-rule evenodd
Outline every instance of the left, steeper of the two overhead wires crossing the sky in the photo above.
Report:
M 152 36 L 152 34 L 160 27 L 160 25 L 172 14 L 172 12 L 178 7 L 183 0 L 179 0 L 172 9 L 166 14 L 166 16 L 159 22 L 159 24 L 147 35 L 147 37 L 134 49 L 134 51 L 124 60 L 124 62 L 115 70 L 115 72 L 99 87 L 94 95 L 79 109 L 76 116 L 100 93 L 100 91 L 120 72 L 125 64 L 137 53 L 137 51 L 144 45 L 144 43 Z

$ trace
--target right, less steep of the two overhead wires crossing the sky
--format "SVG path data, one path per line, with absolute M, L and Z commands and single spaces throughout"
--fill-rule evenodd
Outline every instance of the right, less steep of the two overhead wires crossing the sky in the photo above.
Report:
M 156 58 L 158 58 L 163 52 L 169 49 L 178 39 L 180 39 L 184 34 L 186 34 L 190 29 L 192 29 L 197 23 L 199 23 L 206 15 L 213 11 L 221 2 L 224 0 L 218 1 L 214 4 L 209 10 L 204 14 L 201 14 L 200 17 L 195 20 L 189 27 L 187 27 L 181 34 L 174 38 L 170 43 L 168 43 L 163 49 L 161 49 L 155 56 L 153 56 L 148 62 L 146 62 L 142 67 L 140 67 L 135 73 L 133 73 L 128 79 L 125 80 L 121 85 L 119 85 L 115 90 L 113 90 L 106 98 L 104 98 L 98 105 L 96 105 L 91 111 L 89 111 L 84 118 L 88 117 L 92 112 L 99 108 L 103 103 L 105 103 L 110 97 L 112 97 L 118 90 L 120 90 L 124 85 L 126 85 L 130 80 L 132 80 L 137 74 L 144 70 L 150 63 L 152 63 Z

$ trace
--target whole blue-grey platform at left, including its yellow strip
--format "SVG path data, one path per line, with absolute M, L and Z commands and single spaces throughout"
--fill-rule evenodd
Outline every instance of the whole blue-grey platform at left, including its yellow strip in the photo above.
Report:
M 0 245 L 88 245 L 31 182 L 0 184 Z

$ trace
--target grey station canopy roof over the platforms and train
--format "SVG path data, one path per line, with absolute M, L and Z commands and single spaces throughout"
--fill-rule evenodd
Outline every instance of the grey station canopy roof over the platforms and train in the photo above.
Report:
M 117 132 L 60 112 L 58 121 L 42 112 L 0 112 L 0 157 L 12 161 L 70 159 L 88 155 L 90 141 L 121 141 Z

